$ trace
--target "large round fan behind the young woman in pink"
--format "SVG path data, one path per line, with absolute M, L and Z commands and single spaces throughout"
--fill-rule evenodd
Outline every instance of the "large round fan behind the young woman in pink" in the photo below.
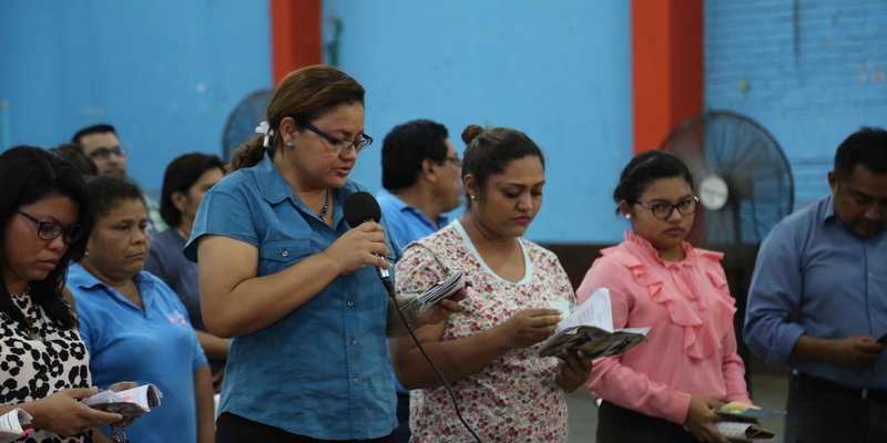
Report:
M 757 246 L 794 205 L 792 169 L 776 140 L 746 116 L 708 111 L 677 125 L 661 148 L 693 173 L 702 210 L 691 241 L 725 253 L 725 268 L 754 264 Z

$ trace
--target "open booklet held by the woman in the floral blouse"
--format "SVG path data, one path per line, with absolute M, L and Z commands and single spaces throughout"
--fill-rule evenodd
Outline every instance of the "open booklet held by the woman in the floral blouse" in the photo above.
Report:
M 646 341 L 650 327 L 613 330 L 613 310 L 610 290 L 592 291 L 575 311 L 558 323 L 557 331 L 537 351 L 549 357 L 564 349 L 582 351 L 593 359 L 616 356 Z

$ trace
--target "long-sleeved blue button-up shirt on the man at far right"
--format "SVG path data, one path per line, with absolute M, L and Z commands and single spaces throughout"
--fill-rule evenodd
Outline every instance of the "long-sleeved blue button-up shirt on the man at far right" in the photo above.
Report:
M 801 334 L 824 339 L 887 332 L 887 233 L 860 238 L 832 197 L 786 217 L 761 245 L 744 337 L 769 363 L 854 388 L 887 388 L 887 352 L 870 368 L 793 361 Z

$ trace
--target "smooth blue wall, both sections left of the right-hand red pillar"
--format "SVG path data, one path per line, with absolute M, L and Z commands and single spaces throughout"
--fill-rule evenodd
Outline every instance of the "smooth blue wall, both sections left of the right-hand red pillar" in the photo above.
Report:
M 459 151 L 469 123 L 511 126 L 548 154 L 529 237 L 618 240 L 609 195 L 632 152 L 629 4 L 325 1 L 325 24 L 343 24 L 339 68 L 366 86 L 379 141 L 355 177 L 379 188 L 381 138 L 408 120 L 446 124 Z M 271 85 L 267 23 L 256 0 L 0 2 L 10 142 L 53 146 L 111 122 L 130 175 L 156 193 L 174 156 L 221 154 L 227 113 Z

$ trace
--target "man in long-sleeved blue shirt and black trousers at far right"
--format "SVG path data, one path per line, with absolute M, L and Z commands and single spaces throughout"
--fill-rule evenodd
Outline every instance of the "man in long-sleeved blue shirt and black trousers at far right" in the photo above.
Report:
M 884 442 L 887 131 L 847 137 L 828 185 L 761 245 L 744 338 L 792 368 L 786 442 Z

